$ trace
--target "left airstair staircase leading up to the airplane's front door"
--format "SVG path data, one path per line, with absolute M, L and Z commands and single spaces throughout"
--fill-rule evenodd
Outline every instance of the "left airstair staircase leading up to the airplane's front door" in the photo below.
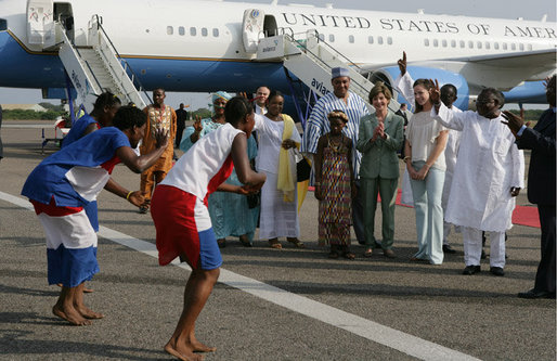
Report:
M 93 15 L 86 44 L 75 44 L 63 25 L 55 25 L 56 39 L 61 41 L 59 56 L 77 91 L 78 103 L 90 106 L 95 95 L 109 91 L 122 104 L 133 103 L 142 109 L 146 105 L 142 93 L 147 101 L 150 96 L 128 63 L 119 56 L 101 23 L 101 18 Z

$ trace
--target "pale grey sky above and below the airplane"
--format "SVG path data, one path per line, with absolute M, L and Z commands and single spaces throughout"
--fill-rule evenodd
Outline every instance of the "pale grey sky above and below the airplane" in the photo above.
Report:
M 158 0 L 163 1 L 163 0 Z M 229 2 L 246 2 L 241 0 L 226 0 Z M 251 0 L 251 3 L 270 3 L 271 0 Z M 337 9 L 362 9 L 393 12 L 417 12 L 423 9 L 429 14 L 466 15 L 478 17 L 518 18 L 540 21 L 547 14 L 548 22 L 556 21 L 555 0 L 461 0 L 461 1 L 433 1 L 433 0 L 278 0 L 278 4 L 303 3 L 315 7 L 325 7 L 332 3 Z M 41 91 L 31 89 L 0 88 L 0 104 L 30 104 L 42 102 Z M 56 100 L 49 100 L 57 103 Z M 166 103 L 178 107 L 180 103 L 190 104 L 191 109 L 207 107 L 210 102 L 207 93 L 174 93 L 168 92 Z M 539 105 L 534 106 L 539 107 Z

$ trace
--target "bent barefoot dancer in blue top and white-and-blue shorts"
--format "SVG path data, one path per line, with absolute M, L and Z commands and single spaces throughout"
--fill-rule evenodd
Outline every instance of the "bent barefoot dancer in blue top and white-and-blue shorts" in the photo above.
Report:
M 134 172 L 153 165 L 168 145 L 166 131 L 156 133 L 157 147 L 137 156 L 133 149 L 145 131 L 145 114 L 135 107 L 121 107 L 115 127 L 102 128 L 42 160 L 27 178 L 22 194 L 29 197 L 47 235 L 49 284 L 62 283 L 52 311 L 74 325 L 101 319 L 83 305 L 83 283 L 99 272 L 96 233 L 83 210 L 96 195 L 107 191 L 135 206 L 143 203 L 139 192 L 106 182 L 114 166 L 122 162 Z M 105 185 L 106 184 L 106 185 Z

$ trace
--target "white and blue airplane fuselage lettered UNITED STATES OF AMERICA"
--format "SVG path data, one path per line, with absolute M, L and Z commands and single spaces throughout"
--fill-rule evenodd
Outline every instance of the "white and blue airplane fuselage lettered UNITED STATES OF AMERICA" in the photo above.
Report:
M 267 15 L 265 27 L 251 29 L 256 36 L 263 37 L 271 28 L 295 37 L 315 30 L 364 69 L 392 65 L 404 50 L 411 62 L 461 73 L 472 87 L 510 89 L 523 80 L 543 79 L 547 75 L 543 67 L 523 74 L 510 74 L 506 67 L 477 70 L 468 60 L 544 51 L 557 42 L 555 23 L 546 22 L 222 1 L 64 3 L 70 4 L 76 44 L 87 42 L 88 23 L 98 14 L 143 85 L 171 91 L 252 91 L 261 83 L 287 89 L 280 62 L 257 62 L 246 51 L 243 36 L 249 29 L 244 28 L 243 17 L 249 9 Z M 29 42 L 27 4 L 21 0 L 0 4 L 9 30 L 0 31 L 0 86 L 65 87 L 57 53 Z

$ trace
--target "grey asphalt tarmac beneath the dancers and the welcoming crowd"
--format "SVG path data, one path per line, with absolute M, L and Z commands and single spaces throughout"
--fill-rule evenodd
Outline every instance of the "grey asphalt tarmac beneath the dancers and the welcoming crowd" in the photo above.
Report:
M 0 359 L 171 360 L 163 346 L 181 312 L 189 270 L 159 267 L 151 217 L 108 192 L 99 197 L 101 272 L 87 283 L 94 293 L 86 295 L 105 318 L 75 327 L 52 314 L 59 289 L 47 282 L 43 231 L 20 195 L 31 169 L 56 150 L 49 143 L 41 155 L 36 124 L 4 121 L 1 130 Z M 51 123 L 41 124 L 52 137 Z M 125 166 L 115 168 L 114 179 L 139 189 L 139 176 Z M 528 205 L 524 193 L 519 205 Z M 380 230 L 380 211 L 376 224 Z M 355 260 L 327 259 L 316 242 L 311 193 L 300 229 L 306 249 L 228 241 L 222 283 L 196 326 L 197 337 L 217 347 L 206 360 L 555 360 L 555 300 L 516 297 L 533 286 L 540 229 L 508 232 L 504 278 L 489 273 L 489 260 L 480 274 L 462 275 L 459 234 L 451 235 L 457 254 L 442 266 L 410 262 L 416 250 L 412 208 L 396 210 L 396 259 L 380 252 L 364 258 L 357 242 Z

